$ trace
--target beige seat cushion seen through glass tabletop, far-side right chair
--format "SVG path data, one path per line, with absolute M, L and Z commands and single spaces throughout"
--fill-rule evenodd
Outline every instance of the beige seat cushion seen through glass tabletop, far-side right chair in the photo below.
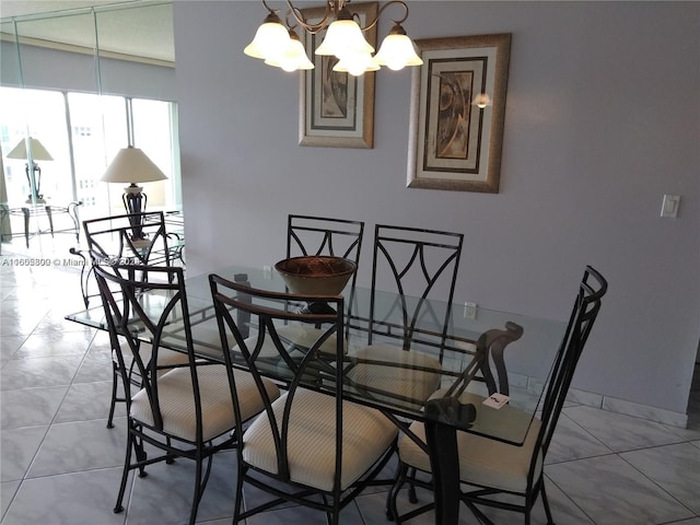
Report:
M 371 345 L 353 351 L 351 357 L 376 361 L 376 363 L 358 363 L 347 373 L 347 377 L 358 385 L 381 388 L 388 393 L 387 395 L 373 393 L 376 399 L 400 404 L 400 398 L 404 397 L 412 399 L 415 405 L 422 407 L 425 399 L 440 386 L 440 361 L 424 353 L 406 351 L 390 345 Z M 435 372 L 415 370 L 415 368 L 435 370 Z

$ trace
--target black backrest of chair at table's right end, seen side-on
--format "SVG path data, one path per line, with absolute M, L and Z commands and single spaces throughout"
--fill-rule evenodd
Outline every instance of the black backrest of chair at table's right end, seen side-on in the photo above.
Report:
M 598 315 L 600 300 L 607 288 L 608 283 L 605 278 L 591 266 L 586 266 L 567 331 L 557 352 L 545 390 L 542 424 L 539 434 L 539 445 L 544 454 L 549 448 L 579 358 Z

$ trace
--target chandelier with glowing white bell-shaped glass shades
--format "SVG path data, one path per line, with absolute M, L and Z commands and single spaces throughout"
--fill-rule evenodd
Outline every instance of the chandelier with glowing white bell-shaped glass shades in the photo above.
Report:
M 334 66 L 334 71 L 349 72 L 359 77 L 366 71 L 377 71 L 381 66 L 398 71 L 407 66 L 423 63 L 416 54 L 413 42 L 401 27 L 401 23 L 408 19 L 406 2 L 401 0 L 386 2 L 377 11 L 376 18 L 369 21 L 365 27 L 360 26 L 359 18 L 348 9 L 349 2 L 350 0 L 328 0 L 324 18 L 317 23 L 310 23 L 304 19 L 302 11 L 287 0 L 289 11 L 285 26 L 277 14 L 278 10 L 270 9 L 266 0 L 262 0 L 269 13 L 258 27 L 255 38 L 243 52 L 253 58 L 260 58 L 268 66 L 281 68 L 284 71 L 313 69 L 314 65 L 306 56 L 304 45 L 295 31 L 295 27 L 300 26 L 312 35 L 328 30 L 315 52 L 322 56 L 335 56 L 338 62 Z M 393 21 L 392 31 L 382 42 L 377 54 L 372 56 L 374 48 L 362 33 L 374 27 L 382 12 L 393 4 L 404 8 L 404 18 Z

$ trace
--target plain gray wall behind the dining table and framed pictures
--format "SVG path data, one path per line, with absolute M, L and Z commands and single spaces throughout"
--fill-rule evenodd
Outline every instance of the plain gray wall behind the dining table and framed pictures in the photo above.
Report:
M 410 10 L 413 38 L 513 33 L 500 194 L 406 188 L 409 71 L 376 77 L 374 149 L 299 147 L 296 74 L 243 55 L 261 3 L 178 1 L 190 275 L 282 258 L 290 212 L 464 232 L 456 299 L 485 307 L 563 319 L 591 264 L 610 288 L 573 386 L 685 413 L 700 332 L 700 3 Z M 663 194 L 682 196 L 677 219 L 658 217 Z

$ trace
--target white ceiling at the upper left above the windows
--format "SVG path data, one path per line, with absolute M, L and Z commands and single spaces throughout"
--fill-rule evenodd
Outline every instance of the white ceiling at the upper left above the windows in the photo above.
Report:
M 3 33 L 16 21 L 23 37 L 93 48 L 93 7 L 101 50 L 175 61 L 173 7 L 163 0 L 0 0 L 0 22 Z

